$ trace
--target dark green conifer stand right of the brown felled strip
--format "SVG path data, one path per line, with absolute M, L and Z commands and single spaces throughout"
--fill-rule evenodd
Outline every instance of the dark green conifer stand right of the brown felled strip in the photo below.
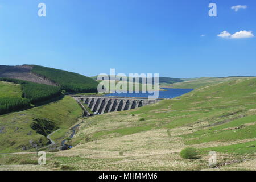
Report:
M 47 68 L 39 65 L 31 66 L 33 67 L 31 70 L 32 73 L 55 82 L 61 89 L 67 92 L 86 93 L 97 91 L 98 82 L 92 78 L 60 69 Z

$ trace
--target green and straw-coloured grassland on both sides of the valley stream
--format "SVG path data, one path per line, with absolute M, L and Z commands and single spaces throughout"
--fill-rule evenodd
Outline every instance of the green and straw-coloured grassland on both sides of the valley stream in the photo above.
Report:
M 1 97 L 6 97 L 5 88 L 10 90 L 9 96 L 21 98 L 19 84 L 1 81 L 0 84 Z M 155 104 L 93 117 L 82 117 L 80 105 L 68 95 L 0 115 L 0 169 L 256 168 L 256 78 L 196 78 L 168 86 L 194 90 Z M 42 123 L 36 125 L 37 130 L 31 128 L 35 121 Z M 68 138 L 72 133 L 69 129 L 74 126 L 77 126 L 75 135 Z M 56 132 L 51 139 L 56 146 L 66 140 L 65 144 L 72 148 L 64 151 L 47 148 L 47 164 L 35 165 L 36 151 L 51 143 L 46 135 L 53 131 Z M 196 159 L 181 158 L 180 151 L 187 147 L 196 148 Z M 217 152 L 214 167 L 208 166 L 209 151 Z

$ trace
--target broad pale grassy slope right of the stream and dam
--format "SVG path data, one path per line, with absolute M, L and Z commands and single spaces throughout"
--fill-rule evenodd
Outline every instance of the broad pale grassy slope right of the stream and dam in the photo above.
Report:
M 72 140 L 79 144 L 51 160 L 77 169 L 206 169 L 212 150 L 207 147 L 216 146 L 218 163 L 253 158 L 255 88 L 256 78 L 239 78 L 174 100 L 86 119 Z M 245 127 L 229 129 L 241 125 Z M 187 146 L 201 148 L 201 158 L 181 159 L 179 151 Z M 241 147 L 246 155 L 239 155 Z

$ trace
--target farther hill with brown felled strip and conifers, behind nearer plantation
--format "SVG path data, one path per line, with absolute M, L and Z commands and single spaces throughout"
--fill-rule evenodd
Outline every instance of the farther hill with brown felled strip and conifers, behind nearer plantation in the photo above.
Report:
M 67 92 L 96 92 L 98 82 L 92 78 L 39 65 L 0 65 L 0 77 L 60 86 Z

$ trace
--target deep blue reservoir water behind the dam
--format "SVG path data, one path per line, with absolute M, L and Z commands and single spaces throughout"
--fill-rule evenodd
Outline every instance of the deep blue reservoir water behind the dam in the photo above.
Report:
M 193 89 L 170 89 L 170 88 L 162 88 L 167 91 L 159 91 L 158 98 L 174 98 L 179 97 L 185 93 L 191 92 Z M 154 94 L 148 93 L 110 93 L 105 96 L 112 96 L 112 97 L 145 97 L 153 96 Z

